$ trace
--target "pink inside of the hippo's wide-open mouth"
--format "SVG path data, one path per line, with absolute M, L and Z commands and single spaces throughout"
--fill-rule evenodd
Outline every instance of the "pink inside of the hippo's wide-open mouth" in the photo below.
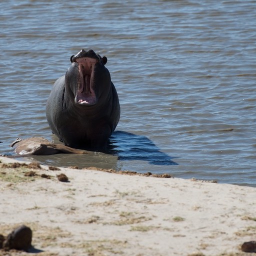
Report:
M 93 68 L 97 62 L 94 58 L 76 59 L 79 69 L 79 80 L 76 89 L 76 102 L 79 104 L 95 104 L 96 95 L 93 89 Z

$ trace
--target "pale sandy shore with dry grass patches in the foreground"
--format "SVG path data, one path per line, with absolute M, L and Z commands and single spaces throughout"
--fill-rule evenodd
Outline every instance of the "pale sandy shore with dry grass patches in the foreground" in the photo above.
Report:
M 26 224 L 34 246 L 0 255 L 256 255 L 254 187 L 0 161 L 0 233 Z

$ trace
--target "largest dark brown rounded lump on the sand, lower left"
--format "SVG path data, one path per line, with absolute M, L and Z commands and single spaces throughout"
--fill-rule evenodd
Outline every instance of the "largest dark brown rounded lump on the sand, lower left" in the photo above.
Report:
M 32 230 L 28 226 L 21 225 L 7 235 L 3 248 L 5 250 L 28 250 L 31 247 L 31 241 Z

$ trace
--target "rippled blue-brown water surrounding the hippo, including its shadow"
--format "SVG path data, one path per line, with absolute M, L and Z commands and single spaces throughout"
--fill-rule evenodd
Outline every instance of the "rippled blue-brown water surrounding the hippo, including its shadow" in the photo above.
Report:
M 55 139 L 45 117 L 72 54 L 107 56 L 121 105 L 111 154 L 34 156 L 256 186 L 256 3 L 250 0 L 0 3 L 0 153 Z M 25 158 L 27 159 L 27 158 Z

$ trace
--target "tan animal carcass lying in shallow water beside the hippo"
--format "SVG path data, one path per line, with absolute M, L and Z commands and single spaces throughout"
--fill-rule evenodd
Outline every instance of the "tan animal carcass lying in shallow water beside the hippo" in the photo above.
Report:
M 31 138 L 16 138 L 11 144 L 14 146 L 14 152 L 20 155 L 35 154 L 35 155 L 50 155 L 57 153 L 76 153 L 83 154 L 86 151 L 71 148 L 62 144 L 55 144 L 46 138 L 31 137 Z

